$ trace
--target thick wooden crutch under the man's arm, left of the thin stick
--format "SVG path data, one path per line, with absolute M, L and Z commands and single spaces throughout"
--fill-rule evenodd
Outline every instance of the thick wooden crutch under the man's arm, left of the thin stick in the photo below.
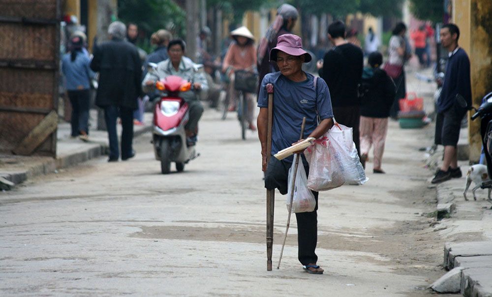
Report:
M 267 166 L 272 152 L 272 123 L 274 107 L 274 86 L 267 85 L 268 125 L 267 125 Z M 272 270 L 272 249 L 274 245 L 275 189 L 267 189 L 267 270 Z

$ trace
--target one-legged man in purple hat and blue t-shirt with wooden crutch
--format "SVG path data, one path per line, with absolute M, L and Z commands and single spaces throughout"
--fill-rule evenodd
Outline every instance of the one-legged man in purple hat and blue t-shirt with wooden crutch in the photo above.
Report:
M 263 78 L 258 96 L 258 137 L 267 189 L 267 270 L 272 269 L 274 190 L 277 188 L 280 194 L 287 194 L 288 171 L 293 161 L 292 156 L 279 161 L 272 155 L 299 141 L 304 117 L 304 135 L 307 137 L 319 138 L 333 126 L 328 86 L 320 78 L 315 83 L 314 76 L 302 70 L 302 64 L 311 61 L 311 56 L 302 48 L 301 38 L 294 34 L 284 34 L 278 36 L 277 41 L 277 46 L 270 51 L 270 61 L 276 62 L 280 71 L 269 73 Z M 270 117 L 269 99 L 273 100 Z M 270 125 L 271 133 L 268 129 Z M 271 147 L 268 145 L 270 141 Z M 309 172 L 303 152 L 297 153 L 301 153 L 302 164 Z M 313 194 L 316 199 L 314 211 L 296 213 L 298 258 L 305 271 L 322 274 L 323 269 L 316 265 L 318 257 L 315 254 L 318 193 Z

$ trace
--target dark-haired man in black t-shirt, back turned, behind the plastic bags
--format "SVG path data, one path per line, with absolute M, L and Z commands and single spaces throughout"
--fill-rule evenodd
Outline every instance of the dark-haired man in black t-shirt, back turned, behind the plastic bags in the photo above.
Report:
M 353 138 L 359 152 L 360 100 L 357 88 L 362 79 L 364 53 L 345 40 L 345 25 L 335 21 L 328 26 L 328 38 L 334 45 L 318 63 L 319 76 L 330 90 L 335 120 L 353 128 Z

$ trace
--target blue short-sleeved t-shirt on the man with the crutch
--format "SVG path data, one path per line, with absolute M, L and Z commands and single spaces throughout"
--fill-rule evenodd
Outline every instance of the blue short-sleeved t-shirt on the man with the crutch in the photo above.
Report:
M 316 110 L 321 120 L 333 118 L 332 101 L 326 82 L 318 78 L 317 96 L 314 91 L 314 76 L 306 73 L 307 79 L 295 82 L 280 72 L 267 74 L 261 82 L 258 107 L 268 108 L 266 85 L 274 86 L 274 110 L 272 126 L 272 154 L 277 154 L 299 140 L 303 117 L 306 117 L 304 137 L 318 126 Z M 293 157 L 285 161 L 292 162 Z

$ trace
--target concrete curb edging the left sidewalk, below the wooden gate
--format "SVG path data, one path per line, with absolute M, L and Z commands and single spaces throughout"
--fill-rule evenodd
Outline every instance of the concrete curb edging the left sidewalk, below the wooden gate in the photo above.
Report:
M 136 138 L 142 134 L 152 131 L 152 126 L 145 126 L 141 129 L 133 132 L 133 138 Z M 44 161 L 40 164 L 33 164 L 25 170 L 20 170 L 17 172 L 2 173 L 0 172 L 0 177 L 5 178 L 7 181 L 18 185 L 30 178 L 45 175 L 49 173 L 54 173 L 59 169 L 68 168 L 75 166 L 91 159 L 99 158 L 103 155 L 107 155 L 109 151 L 109 144 L 107 143 L 94 143 L 91 147 L 86 150 L 74 152 L 64 156 L 59 156 L 56 159 L 50 159 Z

